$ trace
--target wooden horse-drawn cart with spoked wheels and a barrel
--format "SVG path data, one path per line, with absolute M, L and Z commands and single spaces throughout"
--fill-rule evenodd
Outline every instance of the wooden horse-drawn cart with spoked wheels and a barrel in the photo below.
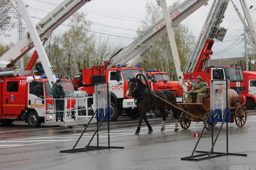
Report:
M 209 91 L 208 91 L 209 94 Z M 230 117 L 231 122 L 234 120 L 239 127 L 243 127 L 246 123 L 247 112 L 245 106 L 242 105 L 244 99 L 244 92 L 240 92 L 238 95 L 237 92 L 230 89 L 228 90 L 228 95 L 230 97 Z M 188 129 L 191 124 L 191 121 L 194 122 L 203 122 L 207 130 L 211 129 L 212 124 L 210 120 L 206 122 L 208 115 L 210 114 L 210 98 L 207 97 L 203 99 L 202 104 L 197 104 L 196 99 L 193 99 L 192 103 L 177 103 L 178 107 L 184 110 L 180 116 L 180 125 L 183 129 Z M 216 125 L 217 123 L 213 123 Z

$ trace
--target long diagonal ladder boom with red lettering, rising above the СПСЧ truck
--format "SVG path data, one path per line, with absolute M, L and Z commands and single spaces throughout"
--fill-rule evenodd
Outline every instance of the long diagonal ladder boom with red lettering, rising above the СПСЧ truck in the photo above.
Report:
M 185 0 L 181 5 L 179 5 L 179 7 L 169 13 L 173 26 L 179 24 L 201 6 L 208 5 L 208 1 L 209 0 Z M 123 66 L 128 61 L 136 57 L 133 60 L 133 64 L 128 65 L 133 66 L 134 63 L 137 63 L 140 58 L 150 50 L 150 47 L 155 43 L 155 41 L 166 33 L 166 24 L 164 18 L 162 18 L 148 28 L 144 33 L 142 33 L 136 40 L 133 41 L 133 43 L 123 48 L 120 52 L 118 52 L 118 54 L 112 57 L 109 60 L 110 65 L 107 68 L 117 66 L 117 64 Z

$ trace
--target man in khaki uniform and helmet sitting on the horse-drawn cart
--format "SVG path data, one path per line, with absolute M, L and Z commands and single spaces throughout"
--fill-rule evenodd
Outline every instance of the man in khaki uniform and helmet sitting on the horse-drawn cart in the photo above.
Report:
M 196 103 L 202 103 L 206 97 L 206 83 L 202 81 L 201 76 L 196 77 L 196 84 L 193 85 L 186 98 L 186 103 L 191 103 L 193 99 L 197 99 Z

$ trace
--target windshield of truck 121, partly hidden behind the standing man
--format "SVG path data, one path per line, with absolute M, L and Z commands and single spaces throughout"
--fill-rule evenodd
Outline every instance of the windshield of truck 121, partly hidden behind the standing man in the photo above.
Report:
M 73 85 L 70 81 L 62 81 L 61 86 L 64 89 L 66 97 L 72 97 L 73 96 L 73 93 L 74 93 L 75 90 L 74 90 Z M 46 87 L 46 95 L 50 96 L 50 97 L 53 97 L 53 94 L 52 94 L 52 91 L 51 91 L 52 86 L 50 85 L 50 83 L 48 81 L 45 82 L 45 87 Z

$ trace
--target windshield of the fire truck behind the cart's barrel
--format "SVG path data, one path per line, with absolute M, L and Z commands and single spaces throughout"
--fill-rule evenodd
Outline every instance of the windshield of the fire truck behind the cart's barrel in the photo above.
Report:
M 241 68 L 225 68 L 226 78 L 230 82 L 244 81 L 243 73 Z

